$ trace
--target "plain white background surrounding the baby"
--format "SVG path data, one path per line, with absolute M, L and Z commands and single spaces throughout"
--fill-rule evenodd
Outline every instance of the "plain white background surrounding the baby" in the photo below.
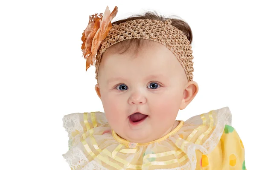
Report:
M 228 106 L 248 170 L 255 158 L 256 10 L 253 1 L 20 0 L 0 3 L 0 130 L 3 170 L 70 170 L 65 114 L 102 111 L 95 67 L 85 72 L 81 36 L 106 6 L 113 21 L 144 11 L 192 28 L 199 92 L 177 119 Z M 254 17 L 253 17 L 254 16 Z

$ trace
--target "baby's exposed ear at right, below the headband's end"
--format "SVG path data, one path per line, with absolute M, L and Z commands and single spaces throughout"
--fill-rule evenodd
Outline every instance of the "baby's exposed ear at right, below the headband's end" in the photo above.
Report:
M 184 92 L 183 92 L 183 99 L 180 103 L 180 110 L 183 110 L 184 108 L 189 105 L 189 103 L 194 99 L 196 94 L 198 93 L 198 84 L 195 81 L 190 81 L 186 84 Z

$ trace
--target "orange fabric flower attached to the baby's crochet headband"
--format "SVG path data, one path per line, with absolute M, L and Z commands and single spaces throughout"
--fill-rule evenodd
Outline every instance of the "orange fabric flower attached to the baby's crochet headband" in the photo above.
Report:
M 86 71 L 95 62 L 97 51 L 101 42 L 107 37 L 112 28 L 111 20 L 116 16 L 117 11 L 117 7 L 115 7 L 110 13 L 107 6 L 103 16 L 102 13 L 90 16 L 88 26 L 82 33 L 83 36 L 81 38 L 83 41 L 81 49 L 84 59 L 86 59 Z

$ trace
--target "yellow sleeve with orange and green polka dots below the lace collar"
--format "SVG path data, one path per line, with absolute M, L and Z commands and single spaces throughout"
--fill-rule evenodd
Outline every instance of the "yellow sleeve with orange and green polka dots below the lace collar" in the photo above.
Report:
M 244 160 L 244 145 L 236 132 L 225 125 L 221 140 L 208 155 L 202 154 L 202 170 L 246 170 Z

